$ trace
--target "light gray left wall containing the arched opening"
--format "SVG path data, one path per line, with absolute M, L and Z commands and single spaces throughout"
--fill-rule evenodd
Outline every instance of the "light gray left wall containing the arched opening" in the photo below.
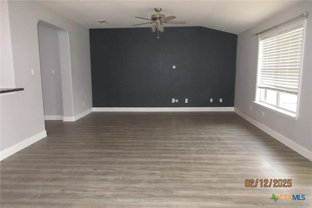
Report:
M 33 141 L 36 135 L 42 138 L 45 132 L 39 61 L 39 20 L 68 32 L 70 60 L 67 61 L 71 63 L 72 75 L 72 80 L 68 80 L 68 83 L 72 83 L 73 103 L 72 113 L 68 116 L 91 112 L 92 109 L 89 30 L 36 1 L 8 1 L 8 14 L 15 82 L 16 86 L 24 87 L 25 90 L 1 96 L 1 159 L 3 152 L 14 153 L 14 147 L 21 147 L 19 144 L 29 138 Z M 35 71 L 33 76 L 31 68 Z M 83 102 L 85 106 L 82 105 Z M 25 146 L 24 143 L 23 145 Z

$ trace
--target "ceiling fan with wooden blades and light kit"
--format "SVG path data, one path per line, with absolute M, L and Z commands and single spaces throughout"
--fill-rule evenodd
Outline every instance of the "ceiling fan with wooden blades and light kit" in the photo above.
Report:
M 157 31 L 157 39 L 160 38 L 159 32 L 160 33 L 164 32 L 163 23 L 170 23 L 170 24 L 185 24 L 186 23 L 186 21 L 172 20 L 172 19 L 176 19 L 175 16 L 165 17 L 165 15 L 159 13 L 161 11 L 161 8 L 155 8 L 155 11 L 157 13 L 153 14 L 151 19 L 140 18 L 140 17 L 136 17 L 136 18 L 150 20 L 149 22 L 145 22 L 145 23 L 141 23 L 141 24 L 152 24 L 152 33 L 155 33 Z M 141 24 L 134 24 L 132 26 L 137 26 L 137 25 L 141 25 Z

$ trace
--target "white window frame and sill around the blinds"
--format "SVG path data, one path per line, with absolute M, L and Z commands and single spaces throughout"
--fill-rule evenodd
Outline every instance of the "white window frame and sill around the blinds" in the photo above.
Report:
M 296 112 L 290 112 L 288 110 L 284 110 L 283 108 L 278 107 L 277 105 L 272 105 L 269 103 L 266 103 L 264 101 L 260 100 L 260 89 L 258 88 L 258 81 L 260 78 L 260 71 L 261 71 L 261 48 L 260 48 L 260 41 L 262 38 L 268 38 L 273 35 L 277 35 L 278 33 L 283 33 L 284 31 L 290 30 L 292 28 L 296 28 L 299 26 L 303 26 L 303 37 L 302 37 L 302 48 L 301 48 L 301 64 L 300 64 L 300 71 L 299 71 L 299 82 L 298 82 L 298 93 L 297 93 L 297 106 L 296 106 Z M 297 118 L 298 113 L 299 113 L 299 100 L 300 100 L 300 85 L 301 85 L 301 77 L 302 77 L 302 66 L 303 66 L 303 61 L 304 61 L 304 47 L 305 47 L 305 31 L 306 31 L 306 19 L 297 21 L 295 23 L 289 24 L 287 26 L 281 27 L 277 30 L 274 30 L 272 32 L 265 33 L 263 35 L 260 35 L 258 38 L 258 58 L 257 58 L 257 77 L 256 77 L 256 84 L 255 84 L 255 97 L 254 97 L 254 103 L 271 109 L 277 113 L 282 113 L 284 115 L 290 116 L 292 118 Z

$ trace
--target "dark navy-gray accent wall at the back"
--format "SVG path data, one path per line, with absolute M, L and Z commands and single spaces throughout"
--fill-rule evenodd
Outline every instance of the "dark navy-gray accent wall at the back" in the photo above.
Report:
M 236 43 L 204 27 L 165 27 L 159 40 L 150 28 L 90 29 L 93 106 L 234 106 Z

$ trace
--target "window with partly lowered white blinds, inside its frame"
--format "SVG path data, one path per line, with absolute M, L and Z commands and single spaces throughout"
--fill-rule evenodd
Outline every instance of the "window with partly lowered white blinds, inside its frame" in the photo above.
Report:
M 296 115 L 302 59 L 303 24 L 259 38 L 256 101 Z

